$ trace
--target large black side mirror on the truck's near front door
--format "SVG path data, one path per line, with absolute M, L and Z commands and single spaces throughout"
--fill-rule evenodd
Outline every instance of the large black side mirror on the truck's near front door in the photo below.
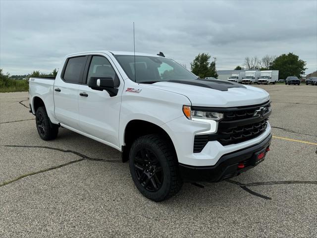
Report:
M 110 76 L 92 76 L 89 78 L 88 87 L 99 91 L 106 90 L 110 97 L 118 93 L 118 89 L 114 87 L 114 79 Z

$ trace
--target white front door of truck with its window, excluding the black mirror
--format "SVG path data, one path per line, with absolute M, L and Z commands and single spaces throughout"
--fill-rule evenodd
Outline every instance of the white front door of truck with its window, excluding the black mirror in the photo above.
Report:
M 81 131 L 108 142 L 110 146 L 119 146 L 119 115 L 121 94 L 124 86 L 119 73 L 105 55 L 89 57 L 82 85 L 79 85 L 79 125 Z M 91 76 L 111 76 L 115 79 L 118 94 L 110 97 L 106 90 L 98 91 L 88 87 Z

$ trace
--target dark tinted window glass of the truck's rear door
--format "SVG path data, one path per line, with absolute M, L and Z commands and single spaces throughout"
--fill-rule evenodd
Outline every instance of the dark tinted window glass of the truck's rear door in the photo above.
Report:
M 68 59 L 63 79 L 70 83 L 80 83 L 86 64 L 86 56 Z

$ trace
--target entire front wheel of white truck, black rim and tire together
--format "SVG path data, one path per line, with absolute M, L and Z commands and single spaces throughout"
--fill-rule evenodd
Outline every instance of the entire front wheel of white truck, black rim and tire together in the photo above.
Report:
M 175 151 L 170 142 L 158 134 L 141 136 L 134 141 L 129 165 L 135 186 L 153 201 L 163 201 L 182 187 Z

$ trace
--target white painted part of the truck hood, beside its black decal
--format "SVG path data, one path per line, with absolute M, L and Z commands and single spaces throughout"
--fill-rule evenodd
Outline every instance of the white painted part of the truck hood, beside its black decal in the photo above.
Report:
M 147 85 L 187 97 L 192 106 L 238 107 L 261 104 L 269 100 L 269 94 L 253 86 L 232 87 L 226 91 L 174 82 L 157 82 Z

